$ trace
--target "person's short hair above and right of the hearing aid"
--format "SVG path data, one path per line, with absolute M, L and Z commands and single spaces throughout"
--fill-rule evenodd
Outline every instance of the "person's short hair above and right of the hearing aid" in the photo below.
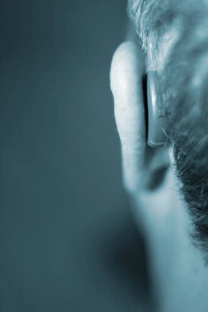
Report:
M 208 259 L 208 1 L 129 0 L 128 13 L 149 58 L 167 30 L 178 33 L 160 74 L 167 136 L 193 242 Z

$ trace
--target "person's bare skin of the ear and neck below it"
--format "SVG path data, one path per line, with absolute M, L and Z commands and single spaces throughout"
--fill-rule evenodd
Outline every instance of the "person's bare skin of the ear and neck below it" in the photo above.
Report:
M 121 140 L 123 184 L 149 251 L 160 312 L 206 312 L 208 268 L 191 242 L 191 223 L 180 199 L 171 149 L 146 144 L 142 77 L 145 57 L 135 41 L 114 53 L 110 80 Z M 151 64 L 157 69 L 157 64 Z M 161 173 L 161 170 L 163 174 Z M 154 188 L 151 181 L 157 176 Z

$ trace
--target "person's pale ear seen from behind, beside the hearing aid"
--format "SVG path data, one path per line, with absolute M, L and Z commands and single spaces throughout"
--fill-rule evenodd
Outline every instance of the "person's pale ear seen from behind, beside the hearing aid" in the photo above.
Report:
M 123 181 L 130 192 L 150 186 L 153 172 L 169 164 L 167 148 L 152 149 L 147 145 L 144 74 L 143 51 L 137 43 L 125 41 L 114 53 L 110 84 L 121 139 Z

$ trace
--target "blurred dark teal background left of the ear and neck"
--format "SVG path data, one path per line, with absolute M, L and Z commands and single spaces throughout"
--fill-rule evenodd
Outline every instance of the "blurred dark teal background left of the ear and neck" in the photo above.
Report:
M 126 1 L 0 6 L 0 311 L 145 311 L 109 88 Z

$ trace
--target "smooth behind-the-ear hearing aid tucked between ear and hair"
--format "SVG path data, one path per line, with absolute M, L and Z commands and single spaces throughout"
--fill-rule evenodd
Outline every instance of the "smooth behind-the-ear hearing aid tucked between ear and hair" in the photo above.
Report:
M 157 71 L 147 72 L 147 106 L 147 144 L 152 148 L 159 148 L 166 143 L 167 112 Z

